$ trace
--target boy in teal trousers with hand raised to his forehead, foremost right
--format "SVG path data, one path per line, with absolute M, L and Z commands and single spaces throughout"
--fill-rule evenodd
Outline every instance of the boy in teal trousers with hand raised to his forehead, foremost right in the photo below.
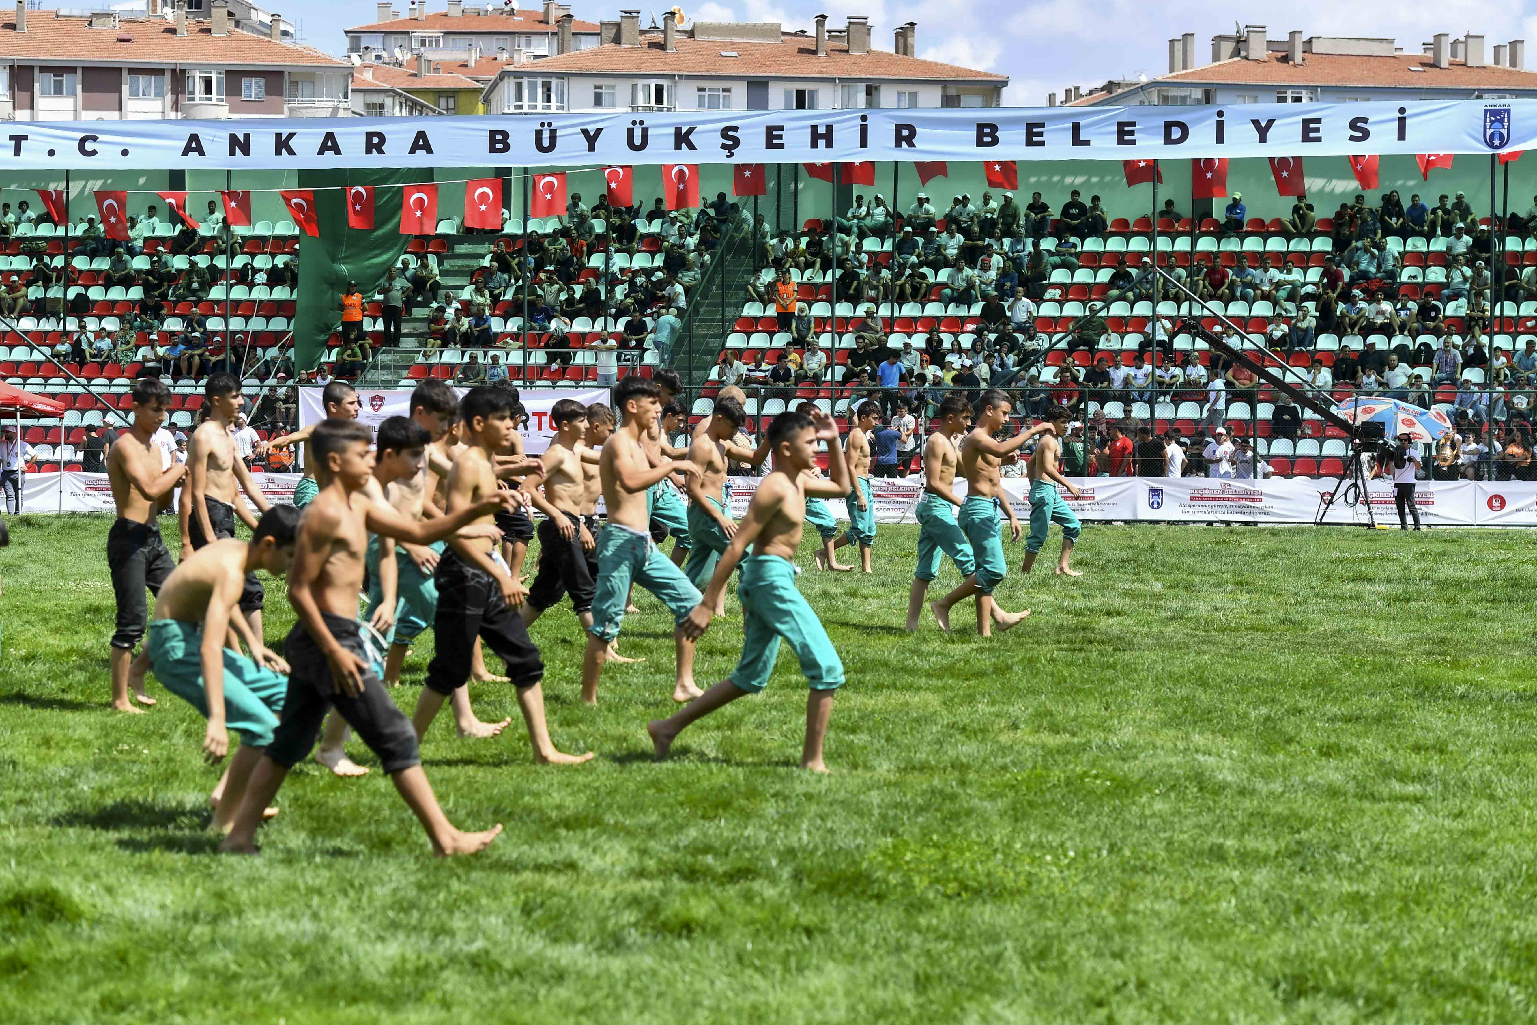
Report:
M 795 553 L 801 547 L 807 495 L 821 498 L 847 495 L 848 467 L 844 464 L 842 450 L 838 449 L 838 424 L 821 410 L 812 416 L 799 410 L 779 413 L 768 426 L 767 436 L 775 455 L 773 472 L 759 481 L 753 501 L 747 506 L 747 515 L 736 526 L 721 564 L 715 567 L 710 589 L 684 622 L 684 632 L 690 638 L 698 638 L 709 629 L 712 610 L 739 564 L 742 658 L 730 676 L 672 718 L 652 721 L 646 730 L 652 736 L 656 758 L 666 758 L 673 741 L 690 722 L 764 688 L 773 675 L 779 639 L 784 638 L 801 661 L 801 672 L 812 687 L 805 699 L 805 745 L 801 748 L 801 768 L 825 773 L 822 739 L 827 736 L 827 721 L 833 713 L 833 693 L 844 682 L 844 664 L 833 650 L 822 621 L 795 587 Z M 810 473 L 816 467 L 818 441 L 830 443 L 827 469 L 832 479 L 828 481 Z M 753 549 L 752 556 L 747 556 L 749 546 Z

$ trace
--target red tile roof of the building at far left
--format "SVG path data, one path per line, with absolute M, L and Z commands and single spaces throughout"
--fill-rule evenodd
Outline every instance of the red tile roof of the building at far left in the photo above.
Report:
M 131 37 L 118 41 L 120 35 Z M 344 68 L 347 61 L 295 43 L 275 43 L 237 28 L 214 35 L 207 22 L 188 22 L 188 34 L 160 18 L 123 20 L 115 29 L 94 29 L 88 18 L 58 17 L 54 11 L 28 11 L 26 31 L 15 31 L 15 15 L 0 22 L 0 60 L 72 60 L 123 65 L 286 65 Z

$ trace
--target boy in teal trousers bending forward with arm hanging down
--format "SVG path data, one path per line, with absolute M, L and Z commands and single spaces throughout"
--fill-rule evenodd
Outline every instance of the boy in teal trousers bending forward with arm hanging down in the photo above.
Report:
M 272 506 L 261 513 L 251 544 L 221 538 L 198 546 L 192 558 L 166 579 L 149 624 L 149 664 L 166 690 L 207 719 L 203 755 L 218 764 L 229 753 L 229 730 L 240 733 L 240 750 L 229 761 L 209 804 L 209 828 L 227 833 L 246 794 L 251 771 L 272 742 L 287 693 L 289 667 L 260 633 L 234 615 L 255 570 L 283 576 L 294 561 L 298 510 Z M 234 630 L 251 656 L 226 647 Z

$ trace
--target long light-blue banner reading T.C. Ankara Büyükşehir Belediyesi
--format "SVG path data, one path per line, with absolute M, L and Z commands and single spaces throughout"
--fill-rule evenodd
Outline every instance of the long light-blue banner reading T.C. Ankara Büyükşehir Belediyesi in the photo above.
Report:
M 88 172 L 1176 160 L 1488 154 L 1529 146 L 1537 146 L 1537 100 L 14 121 L 0 132 L 9 171 Z

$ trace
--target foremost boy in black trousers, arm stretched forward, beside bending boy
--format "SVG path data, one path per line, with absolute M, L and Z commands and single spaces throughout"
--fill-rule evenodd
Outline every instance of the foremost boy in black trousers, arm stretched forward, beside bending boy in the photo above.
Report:
M 417 731 L 380 681 L 377 656 L 358 622 L 358 592 L 370 530 L 397 541 L 432 544 L 512 499 L 493 495 L 447 516 L 410 522 L 364 493 L 373 473 L 370 441 L 364 424 L 347 420 L 326 420 L 310 432 L 309 444 L 324 487 L 300 522 L 289 570 L 289 601 L 298 622 L 284 645 L 290 668 L 283 721 L 251 775 L 234 828 L 220 850 L 255 850 L 266 807 L 289 770 L 315 747 L 327 707 L 334 707 L 378 755 L 384 773 L 426 828 L 438 854 L 475 853 L 501 833 L 501 825 L 484 833 L 461 833 L 438 807 L 421 770 Z

